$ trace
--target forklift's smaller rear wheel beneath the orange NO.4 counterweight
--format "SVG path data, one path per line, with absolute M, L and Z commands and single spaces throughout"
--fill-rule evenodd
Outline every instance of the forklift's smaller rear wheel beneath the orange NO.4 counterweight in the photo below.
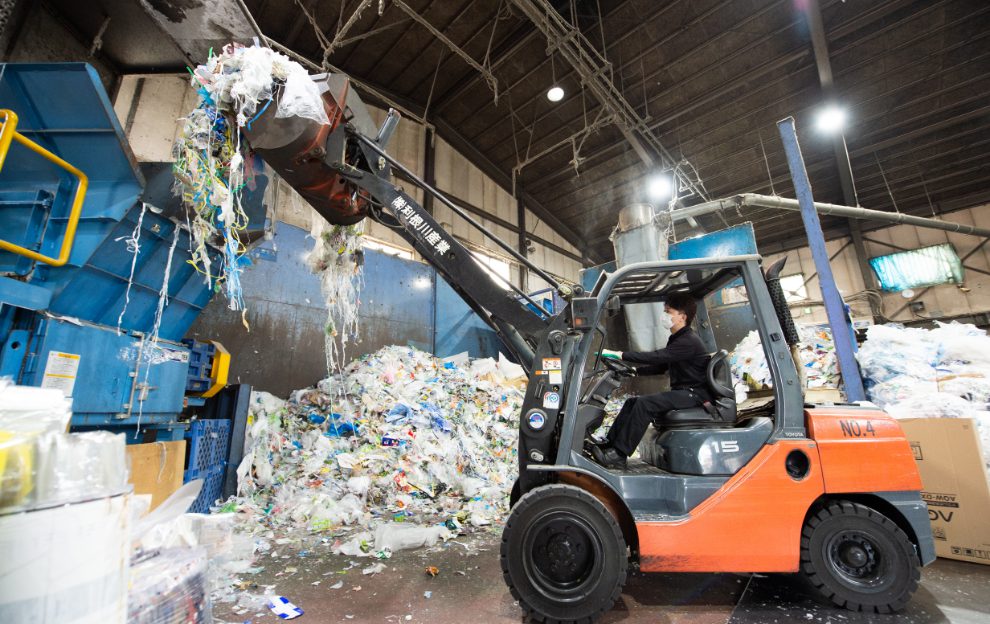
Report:
M 851 501 L 833 501 L 801 531 L 801 572 L 812 587 L 851 611 L 892 613 L 918 589 L 921 562 L 890 518 Z

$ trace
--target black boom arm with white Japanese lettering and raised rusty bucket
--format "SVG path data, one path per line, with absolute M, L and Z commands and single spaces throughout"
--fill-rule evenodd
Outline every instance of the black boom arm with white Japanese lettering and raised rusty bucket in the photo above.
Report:
M 390 110 L 376 129 L 346 77 L 322 74 L 313 80 L 320 88 L 330 123 L 279 118 L 266 111 L 245 128 L 252 149 L 330 223 L 349 225 L 370 217 L 392 228 L 443 276 L 531 373 L 534 348 L 546 332 L 551 314 L 515 285 L 496 281 L 474 254 L 392 181 L 393 171 L 464 218 L 565 298 L 570 297 L 571 289 L 386 153 L 399 121 L 396 111 Z

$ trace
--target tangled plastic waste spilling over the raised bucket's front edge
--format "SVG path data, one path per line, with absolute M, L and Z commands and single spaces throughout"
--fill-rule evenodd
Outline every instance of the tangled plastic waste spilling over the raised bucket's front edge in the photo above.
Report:
M 176 191 L 191 214 L 191 262 L 206 283 L 223 290 L 230 309 L 244 310 L 241 273 L 248 264 L 239 233 L 248 225 L 241 205 L 245 180 L 241 128 L 278 101 L 276 117 L 329 123 L 319 91 L 301 65 L 269 48 L 225 46 L 191 70 L 200 102 L 183 121 L 173 148 Z M 211 266 L 207 245 L 218 245 L 222 266 Z

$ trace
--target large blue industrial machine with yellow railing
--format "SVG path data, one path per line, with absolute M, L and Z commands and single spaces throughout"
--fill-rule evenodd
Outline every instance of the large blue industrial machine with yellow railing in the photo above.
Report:
M 0 376 L 62 389 L 74 430 L 182 439 L 229 355 L 182 340 L 213 293 L 168 164 L 139 167 L 83 63 L 0 65 L 0 122 Z

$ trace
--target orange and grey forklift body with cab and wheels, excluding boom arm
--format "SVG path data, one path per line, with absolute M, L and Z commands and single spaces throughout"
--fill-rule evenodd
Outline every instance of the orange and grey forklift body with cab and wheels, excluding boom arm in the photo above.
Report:
M 612 608 L 630 562 L 644 572 L 800 573 L 853 611 L 889 613 L 935 559 L 921 479 L 898 423 L 872 405 L 809 405 L 780 287 L 783 261 L 758 256 L 640 263 L 602 274 L 570 303 L 568 338 L 538 353 L 520 423 L 519 481 L 502 533 L 505 582 L 539 622 L 593 622 Z M 745 288 L 772 392 L 736 404 L 709 307 Z M 712 351 L 708 409 L 671 411 L 644 459 L 607 469 L 589 452 L 612 393 L 635 369 L 598 354 L 605 319 L 672 293 L 699 302 Z M 735 344 L 734 342 L 732 344 Z M 536 405 L 550 375 L 561 405 Z M 550 405 L 556 405 L 556 401 Z

